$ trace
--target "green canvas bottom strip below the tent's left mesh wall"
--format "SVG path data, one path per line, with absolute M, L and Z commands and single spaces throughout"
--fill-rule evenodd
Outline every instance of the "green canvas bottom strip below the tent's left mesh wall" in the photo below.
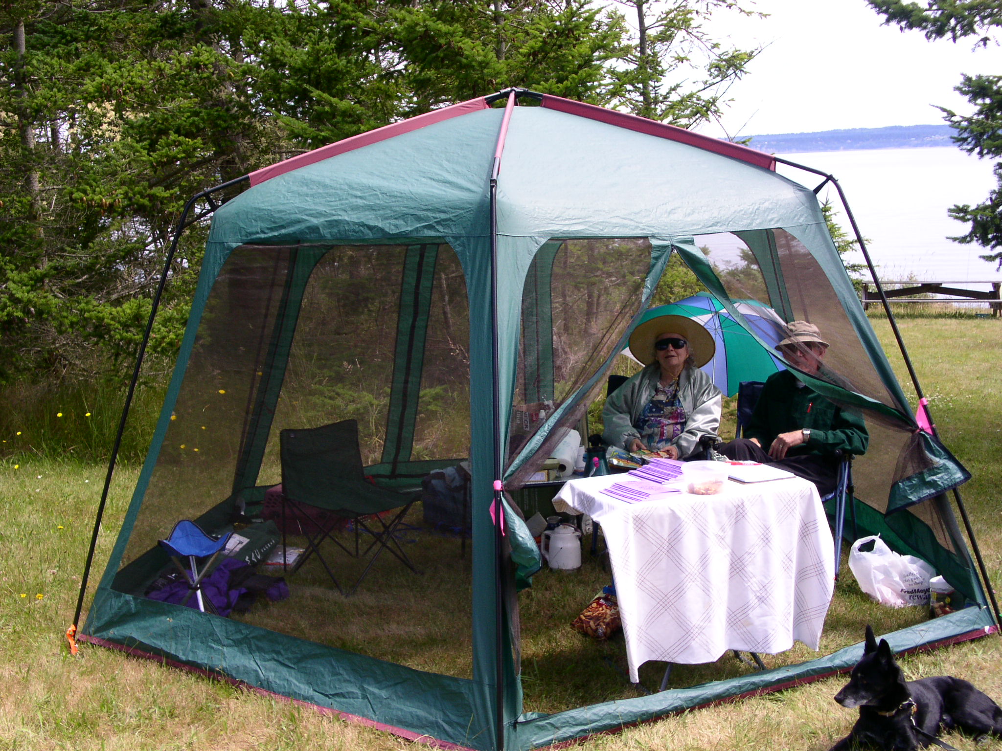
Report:
M 493 737 L 473 711 L 474 681 L 426 673 L 192 608 L 98 590 L 86 633 L 205 668 L 293 699 L 475 749 Z M 254 644 L 253 654 L 246 649 Z

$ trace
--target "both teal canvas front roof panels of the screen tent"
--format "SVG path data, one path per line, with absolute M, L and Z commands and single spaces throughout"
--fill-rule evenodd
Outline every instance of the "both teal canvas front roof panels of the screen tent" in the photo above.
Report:
M 221 206 L 209 241 L 486 235 L 503 110 L 469 109 L 304 154 L 304 166 Z M 322 152 L 334 155 L 314 160 Z M 498 180 L 501 233 L 669 236 L 820 221 L 811 191 L 768 167 L 588 116 L 546 107 L 513 112 Z

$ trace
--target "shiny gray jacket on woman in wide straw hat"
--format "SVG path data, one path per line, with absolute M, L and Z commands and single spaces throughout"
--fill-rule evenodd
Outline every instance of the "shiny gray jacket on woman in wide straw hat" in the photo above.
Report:
M 640 422 L 643 408 L 654 396 L 661 366 L 654 362 L 628 379 L 605 400 L 602 440 L 619 449 L 626 442 L 640 438 L 634 426 Z M 678 399 L 685 411 L 685 430 L 671 444 L 682 459 L 694 452 L 703 436 L 716 436 L 720 427 L 722 395 L 709 377 L 698 367 L 686 365 L 678 376 Z

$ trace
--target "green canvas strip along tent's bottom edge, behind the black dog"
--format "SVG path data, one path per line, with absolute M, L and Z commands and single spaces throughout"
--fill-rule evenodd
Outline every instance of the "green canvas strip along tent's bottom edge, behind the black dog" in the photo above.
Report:
M 963 635 L 987 636 L 993 628 L 991 613 L 985 608 L 974 607 L 881 636 L 888 640 L 895 652 L 903 652 Z M 862 656 L 863 644 L 856 644 L 800 665 L 756 671 L 691 688 L 669 689 L 635 699 L 593 704 L 542 717 L 535 713 L 523 715 L 517 726 L 516 748 L 528 751 L 585 735 L 620 730 L 692 707 L 825 677 L 847 671 Z

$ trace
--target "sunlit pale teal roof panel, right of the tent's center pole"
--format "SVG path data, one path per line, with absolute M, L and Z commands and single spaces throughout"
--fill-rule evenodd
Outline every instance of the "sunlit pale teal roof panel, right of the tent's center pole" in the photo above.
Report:
M 767 168 L 564 112 L 512 115 L 498 178 L 503 233 L 655 236 L 823 220 L 808 188 Z

